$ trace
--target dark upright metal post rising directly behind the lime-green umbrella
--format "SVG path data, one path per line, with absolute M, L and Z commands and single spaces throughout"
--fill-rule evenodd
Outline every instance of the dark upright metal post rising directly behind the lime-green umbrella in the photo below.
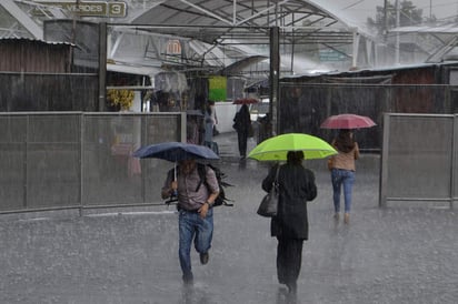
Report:
M 272 123 L 272 133 L 270 136 L 275 136 L 278 133 L 278 108 L 279 102 L 279 79 L 280 79 L 280 52 L 279 52 L 279 27 L 270 28 L 270 77 L 269 77 L 269 100 L 270 100 L 270 118 Z

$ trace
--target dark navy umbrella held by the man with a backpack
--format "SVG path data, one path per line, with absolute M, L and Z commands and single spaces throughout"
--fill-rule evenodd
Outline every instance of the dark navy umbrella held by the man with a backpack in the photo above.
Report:
M 205 145 L 185 142 L 162 142 L 142 146 L 133 152 L 135 158 L 161 159 L 170 162 L 185 160 L 219 160 L 219 156 Z

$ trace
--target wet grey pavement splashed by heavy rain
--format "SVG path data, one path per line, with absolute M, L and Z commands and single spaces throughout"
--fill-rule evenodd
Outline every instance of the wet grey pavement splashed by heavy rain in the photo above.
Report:
M 215 210 L 210 262 L 200 265 L 192 252 L 193 286 L 181 283 L 173 206 L 10 214 L 0 216 L 0 303 L 288 303 L 269 220 L 256 214 L 267 165 L 240 162 L 235 133 L 215 140 L 235 206 Z M 336 222 L 326 162 L 306 165 L 316 173 L 318 197 L 309 203 L 296 303 L 456 303 L 454 210 L 380 209 L 379 159 L 364 154 L 350 223 Z

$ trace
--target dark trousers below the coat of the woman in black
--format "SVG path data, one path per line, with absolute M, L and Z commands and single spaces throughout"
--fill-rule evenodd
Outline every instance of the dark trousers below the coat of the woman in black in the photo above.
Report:
M 277 276 L 281 284 L 296 286 L 302 263 L 303 240 L 277 237 Z

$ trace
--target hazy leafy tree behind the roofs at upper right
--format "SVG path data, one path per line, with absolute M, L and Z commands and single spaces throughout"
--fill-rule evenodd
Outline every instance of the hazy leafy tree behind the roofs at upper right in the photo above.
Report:
M 370 29 L 376 30 L 379 34 L 384 34 L 386 27 L 392 29 L 396 27 L 396 1 L 387 1 L 387 9 L 384 7 L 376 7 L 376 20 L 371 17 L 367 19 L 367 24 Z M 412 1 L 404 0 L 400 2 L 399 27 L 417 26 L 422 20 L 422 9 L 417 9 Z M 387 19 L 385 19 L 385 11 Z M 436 18 L 431 18 L 436 19 Z

